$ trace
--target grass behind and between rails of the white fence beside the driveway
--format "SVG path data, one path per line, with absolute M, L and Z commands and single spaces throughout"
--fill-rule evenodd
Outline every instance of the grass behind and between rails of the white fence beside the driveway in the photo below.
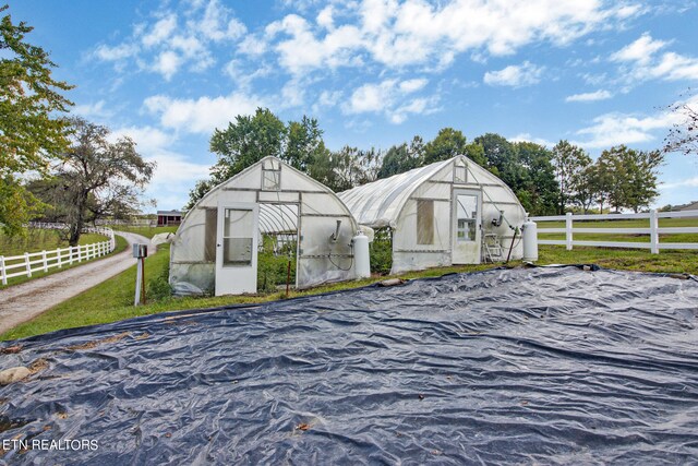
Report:
M 32 230 L 33 229 L 31 229 L 29 231 L 32 231 Z M 8 240 L 8 243 L 14 244 L 14 247 L 21 247 L 22 244 L 28 246 L 29 248 L 26 250 L 26 252 L 39 252 L 39 251 L 43 251 L 43 250 L 49 251 L 49 250 L 58 249 L 58 248 L 68 248 L 68 242 L 59 242 L 58 246 L 55 246 L 55 243 L 52 242 L 53 241 L 53 236 L 51 234 L 57 234 L 56 230 L 34 229 L 34 231 L 36 234 L 33 236 L 33 238 L 35 238 L 37 240 L 36 243 L 22 242 L 22 241 L 17 240 L 16 238 L 14 238 L 14 239 L 4 238 L 4 239 Z M 58 238 L 58 236 L 56 236 L 56 237 Z M 31 237 L 27 237 L 27 238 L 31 238 Z M 95 235 L 95 234 L 84 234 L 84 235 L 80 236 L 79 243 L 80 244 L 92 244 L 92 243 L 95 243 L 95 242 L 101 242 L 101 241 L 107 241 L 107 240 L 108 240 L 108 238 L 106 236 Z M 59 267 L 49 268 L 48 272 L 44 272 L 44 271 L 32 272 L 32 276 L 31 277 L 27 277 L 27 276 L 23 275 L 23 276 L 19 276 L 19 277 L 8 278 L 8 285 L 7 286 L 0 285 L 0 290 L 2 290 L 4 288 L 8 288 L 10 286 L 13 286 L 13 285 L 19 285 L 19 284 L 24 283 L 24 282 L 28 282 L 28 280 L 35 279 L 35 278 L 45 277 L 45 276 L 48 276 L 48 275 L 56 274 L 58 272 L 67 271 L 68 268 L 77 267 L 80 265 L 87 264 L 87 263 L 93 262 L 93 261 L 98 261 L 100 259 L 108 258 L 109 255 L 117 254 L 117 253 L 123 251 L 129 246 L 128 241 L 125 239 L 121 238 L 120 236 L 116 236 L 115 240 L 116 240 L 116 249 L 110 254 L 107 254 L 107 255 L 105 255 L 103 258 L 94 258 L 94 259 L 91 259 L 89 261 L 73 262 L 72 265 L 71 264 L 63 264 L 62 267 L 60 267 L 60 268 Z M 0 235 L 0 243 L 1 243 L 1 241 L 2 241 L 2 236 Z M 40 242 L 40 241 L 45 241 L 45 242 Z M 39 247 L 37 244 L 41 244 L 41 247 Z M 49 247 L 49 244 L 53 244 L 53 246 Z M 20 254 L 24 254 L 24 252 L 25 251 L 7 253 L 4 249 L 0 249 L 0 255 L 5 255 L 5 256 L 20 255 Z M 7 264 L 10 265 L 10 264 L 15 263 L 15 262 L 16 261 L 7 262 Z M 14 273 L 14 272 L 17 272 L 17 270 L 14 268 L 11 272 Z

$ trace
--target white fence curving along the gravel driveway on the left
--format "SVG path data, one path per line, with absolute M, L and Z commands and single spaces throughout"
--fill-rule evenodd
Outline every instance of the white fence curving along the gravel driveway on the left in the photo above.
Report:
M 31 223 L 28 226 L 29 228 L 43 229 L 68 228 L 64 224 L 47 223 Z M 0 255 L 0 279 L 2 280 L 2 285 L 8 284 L 8 278 L 19 276 L 31 277 L 33 272 L 48 272 L 53 267 L 61 268 L 63 265 L 71 265 L 75 262 L 88 261 L 94 258 L 107 255 L 115 250 L 116 241 L 111 228 L 86 227 L 83 231 L 104 235 L 109 239 L 92 244 L 58 248 L 52 251 L 25 252 L 24 254 L 12 256 Z

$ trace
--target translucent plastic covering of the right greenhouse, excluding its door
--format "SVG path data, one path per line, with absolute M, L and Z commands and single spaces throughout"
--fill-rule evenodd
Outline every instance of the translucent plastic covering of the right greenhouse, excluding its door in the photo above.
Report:
M 359 224 L 393 228 L 392 273 L 401 273 L 453 264 L 453 193 L 456 189 L 480 192 L 482 235 L 495 234 L 505 258 L 514 241 L 512 259 L 521 259 L 520 232 L 515 240 L 514 231 L 524 225 L 526 211 L 502 180 L 465 156 L 416 168 L 337 195 Z M 418 222 L 418 205 L 424 201 L 433 203 L 434 213 L 434 223 L 430 226 L 433 241 L 426 244 L 420 241 L 425 236 Z

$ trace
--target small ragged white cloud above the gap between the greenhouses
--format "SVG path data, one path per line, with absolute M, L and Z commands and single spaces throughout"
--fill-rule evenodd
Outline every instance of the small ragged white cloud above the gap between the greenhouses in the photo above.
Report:
M 342 106 L 342 112 L 345 115 L 384 113 L 395 124 L 404 122 L 410 113 L 433 113 L 440 110 L 437 97 L 408 97 L 423 88 L 426 83 L 428 80 L 424 79 L 406 81 L 393 79 L 376 84 L 364 84 L 354 89 L 349 101 Z

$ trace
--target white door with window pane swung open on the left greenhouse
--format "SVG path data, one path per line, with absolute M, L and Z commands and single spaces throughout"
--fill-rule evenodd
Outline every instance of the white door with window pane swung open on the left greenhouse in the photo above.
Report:
M 218 205 L 216 296 L 257 291 L 257 222 L 260 206 Z

